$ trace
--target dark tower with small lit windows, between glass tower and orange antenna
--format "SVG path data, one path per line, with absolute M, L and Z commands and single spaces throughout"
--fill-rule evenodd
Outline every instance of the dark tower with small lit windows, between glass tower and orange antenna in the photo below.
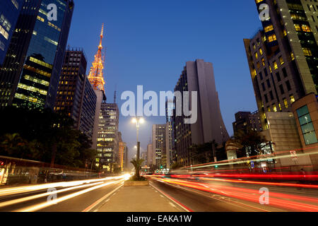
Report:
M 69 114 L 74 128 L 92 138 L 97 97 L 86 76 L 86 66 L 83 49 L 66 50 L 54 111 Z

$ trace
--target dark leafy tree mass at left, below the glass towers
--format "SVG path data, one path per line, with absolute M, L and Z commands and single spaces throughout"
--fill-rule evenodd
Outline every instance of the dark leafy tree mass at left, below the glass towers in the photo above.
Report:
M 73 119 L 51 109 L 0 110 L 0 155 L 85 167 L 96 156 L 92 141 L 73 129 Z

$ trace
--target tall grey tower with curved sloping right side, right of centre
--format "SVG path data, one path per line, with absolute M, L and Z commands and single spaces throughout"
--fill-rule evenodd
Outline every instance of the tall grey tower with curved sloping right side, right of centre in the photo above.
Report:
M 182 117 L 176 117 L 176 114 L 173 114 L 172 117 L 177 162 L 182 165 L 192 165 L 196 162 L 193 162 L 190 157 L 188 148 L 191 145 L 211 141 L 222 145 L 229 138 L 220 113 L 212 64 L 201 59 L 188 61 L 175 86 L 175 91 L 196 91 L 198 93 L 198 112 L 195 124 L 184 124 L 184 114 Z

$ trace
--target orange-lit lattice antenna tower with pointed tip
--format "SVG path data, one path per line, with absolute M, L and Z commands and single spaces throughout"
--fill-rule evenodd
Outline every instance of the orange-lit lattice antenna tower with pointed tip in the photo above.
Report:
M 100 32 L 100 45 L 98 46 L 98 53 L 95 55 L 93 66 L 90 67 L 90 74 L 88 75 L 88 79 L 95 90 L 102 90 L 105 92 L 105 81 L 102 73 L 105 62 L 105 57 L 102 56 L 102 37 L 104 37 L 103 32 L 104 24 L 102 24 L 102 31 Z

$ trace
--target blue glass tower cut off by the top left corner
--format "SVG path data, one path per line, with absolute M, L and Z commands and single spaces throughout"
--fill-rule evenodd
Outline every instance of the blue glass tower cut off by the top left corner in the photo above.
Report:
M 0 67 L 6 57 L 22 4 L 23 0 L 1 0 L 0 2 Z

